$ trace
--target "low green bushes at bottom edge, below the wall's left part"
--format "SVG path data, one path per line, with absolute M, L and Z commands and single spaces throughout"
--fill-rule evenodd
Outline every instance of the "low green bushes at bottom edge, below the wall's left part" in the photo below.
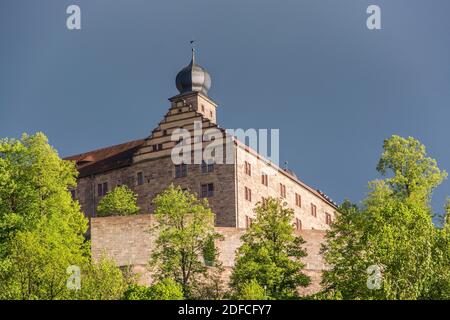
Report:
M 163 279 L 150 287 L 132 284 L 124 293 L 124 300 L 183 300 L 181 286 L 172 279 Z

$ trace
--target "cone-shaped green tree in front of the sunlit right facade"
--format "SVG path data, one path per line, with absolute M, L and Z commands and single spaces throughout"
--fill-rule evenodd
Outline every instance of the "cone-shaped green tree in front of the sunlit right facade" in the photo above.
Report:
M 310 279 L 302 273 L 306 256 L 300 236 L 294 233 L 294 213 L 278 199 L 269 198 L 255 208 L 256 221 L 242 236 L 237 251 L 231 286 L 242 291 L 248 281 L 255 280 L 266 288 L 268 297 L 287 299 L 297 296 L 299 286 Z

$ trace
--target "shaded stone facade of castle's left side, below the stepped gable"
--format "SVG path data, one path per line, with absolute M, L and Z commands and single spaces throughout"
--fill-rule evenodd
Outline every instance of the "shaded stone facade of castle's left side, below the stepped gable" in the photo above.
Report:
M 137 174 L 142 172 L 144 183 L 137 184 Z M 96 187 L 100 183 L 108 182 L 109 190 L 118 185 L 128 185 L 138 195 L 138 206 L 142 213 L 153 212 L 153 198 L 171 183 L 180 185 L 200 195 L 201 184 L 213 183 L 214 196 L 208 198 L 211 209 L 217 213 L 216 225 L 234 226 L 235 214 L 235 183 L 234 165 L 216 164 L 214 172 L 202 173 L 201 166 L 188 165 L 187 177 L 175 178 L 175 166 L 170 157 L 164 157 L 133 164 L 122 169 L 95 175 L 93 178 L 79 179 L 77 199 L 86 216 L 93 215 L 101 197 Z

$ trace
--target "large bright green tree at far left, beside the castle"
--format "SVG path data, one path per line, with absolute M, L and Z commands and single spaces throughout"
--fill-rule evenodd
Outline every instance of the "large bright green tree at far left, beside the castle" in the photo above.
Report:
M 0 298 L 65 299 L 66 269 L 87 263 L 77 171 L 38 133 L 0 141 Z

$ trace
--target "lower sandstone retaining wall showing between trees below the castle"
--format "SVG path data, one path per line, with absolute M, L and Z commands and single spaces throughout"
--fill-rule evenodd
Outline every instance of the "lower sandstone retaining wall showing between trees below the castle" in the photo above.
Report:
M 134 216 L 113 216 L 93 218 L 91 220 L 92 255 L 99 259 L 102 255 L 112 258 L 118 266 L 132 266 L 132 269 L 142 275 L 140 282 L 149 284 L 151 275 L 146 270 L 155 234 L 150 232 L 154 218 L 150 214 Z M 245 229 L 232 227 L 216 227 L 217 232 L 224 236 L 218 242 L 219 259 L 225 267 L 225 275 L 229 276 L 234 265 L 234 256 L 240 247 L 240 237 Z M 320 230 L 302 230 L 299 234 L 306 241 L 305 273 L 311 277 L 312 283 L 302 289 L 303 294 L 317 292 L 320 289 L 321 273 L 325 269 L 323 259 L 319 253 L 320 245 L 325 235 Z

